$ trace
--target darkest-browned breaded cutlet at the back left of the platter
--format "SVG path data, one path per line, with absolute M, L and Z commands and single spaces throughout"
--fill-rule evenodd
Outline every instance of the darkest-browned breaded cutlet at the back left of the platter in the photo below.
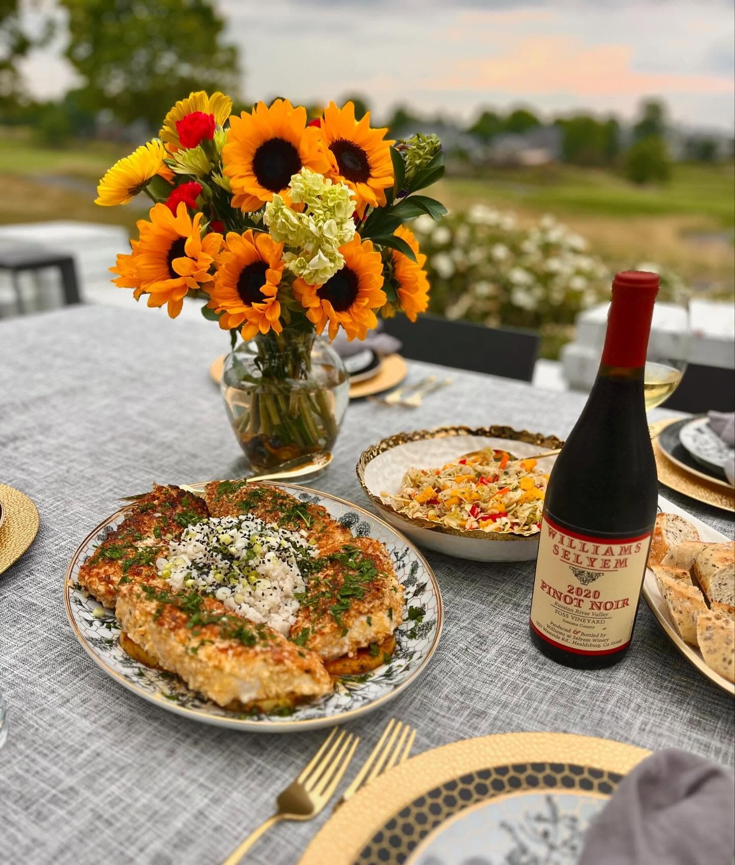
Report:
M 155 576 L 155 562 L 171 538 L 209 516 L 207 504 L 177 486 L 159 486 L 131 506 L 117 529 L 107 535 L 80 567 L 81 586 L 108 607 L 115 606 L 118 583 L 131 567 L 145 566 Z

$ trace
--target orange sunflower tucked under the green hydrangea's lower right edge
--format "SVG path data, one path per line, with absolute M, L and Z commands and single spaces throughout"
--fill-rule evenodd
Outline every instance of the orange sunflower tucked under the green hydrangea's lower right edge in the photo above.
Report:
M 308 285 L 295 279 L 294 296 L 306 308 L 306 317 L 322 333 L 329 322 L 329 339 L 334 339 L 340 324 L 348 340 L 364 339 L 368 328 L 378 324 L 375 310 L 386 302 L 383 285 L 383 262 L 370 240 L 359 234 L 340 247 L 344 266 L 324 285 Z

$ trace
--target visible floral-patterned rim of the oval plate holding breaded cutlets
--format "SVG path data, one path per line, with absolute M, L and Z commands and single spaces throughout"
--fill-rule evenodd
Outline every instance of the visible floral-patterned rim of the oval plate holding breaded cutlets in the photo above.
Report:
M 64 603 L 74 635 L 108 676 L 144 700 L 195 721 L 250 732 L 287 733 L 342 724 L 372 712 L 407 688 L 425 670 L 442 630 L 442 599 L 437 579 L 424 556 L 387 522 L 355 504 L 297 484 L 274 485 L 303 502 L 322 504 L 355 535 L 368 535 L 386 545 L 398 580 L 406 588 L 406 609 L 419 607 L 423 613 L 406 620 L 396 631 L 396 650 L 390 663 L 366 676 L 336 679 L 335 689 L 330 694 L 298 706 L 287 717 L 227 711 L 190 691 L 178 676 L 138 663 L 118 644 L 119 629 L 114 613 L 105 610 L 93 598 L 85 598 L 77 583 L 82 563 L 125 519 L 127 511 L 123 508 L 100 522 L 80 543 L 69 561 L 64 580 Z M 204 486 L 193 484 L 188 489 L 201 491 Z M 101 618 L 94 613 L 99 609 L 104 610 Z

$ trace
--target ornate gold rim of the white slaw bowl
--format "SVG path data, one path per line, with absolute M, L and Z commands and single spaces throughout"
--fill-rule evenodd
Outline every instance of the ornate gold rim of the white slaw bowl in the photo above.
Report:
M 371 445 L 367 450 L 363 451 L 355 466 L 357 479 L 360 481 L 362 491 L 367 498 L 379 510 L 384 510 L 395 517 L 399 522 L 413 529 L 430 529 L 439 535 L 455 535 L 457 537 L 472 538 L 475 541 L 527 541 L 533 538 L 533 535 L 516 535 L 512 532 L 498 534 L 497 532 L 483 532 L 476 529 L 453 529 L 450 526 L 443 526 L 438 522 L 425 520 L 421 516 L 406 516 L 399 510 L 393 508 L 392 505 L 385 503 L 380 496 L 375 496 L 367 489 L 365 483 L 365 469 L 375 457 L 381 453 L 392 450 L 399 445 L 406 445 L 412 441 L 425 441 L 427 439 L 448 439 L 452 436 L 476 436 L 483 439 L 508 439 L 510 441 L 520 441 L 525 445 L 536 445 L 540 449 L 556 451 L 564 446 L 564 441 L 558 439 L 554 435 L 546 435 L 543 432 L 528 432 L 527 430 L 514 430 L 512 426 L 437 426 L 431 430 L 414 430 L 412 432 L 397 432 L 395 435 L 388 436 L 387 439 L 381 439 L 376 445 Z

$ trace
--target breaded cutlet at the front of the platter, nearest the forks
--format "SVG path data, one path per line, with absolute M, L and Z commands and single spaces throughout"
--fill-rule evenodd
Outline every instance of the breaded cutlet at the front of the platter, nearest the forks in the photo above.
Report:
M 119 587 L 121 628 L 157 665 L 189 688 L 229 708 L 271 711 L 331 690 L 321 659 L 268 625 L 233 615 L 195 591 L 171 592 L 132 567 Z

